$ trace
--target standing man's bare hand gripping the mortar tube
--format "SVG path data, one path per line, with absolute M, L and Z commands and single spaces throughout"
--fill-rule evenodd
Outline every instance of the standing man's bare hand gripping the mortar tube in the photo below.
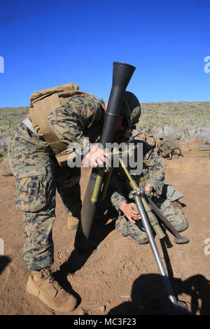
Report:
M 85 155 L 85 160 L 88 161 L 91 167 L 108 165 L 111 160 L 111 155 L 99 148 L 97 144 L 93 144 L 90 148 L 90 152 Z

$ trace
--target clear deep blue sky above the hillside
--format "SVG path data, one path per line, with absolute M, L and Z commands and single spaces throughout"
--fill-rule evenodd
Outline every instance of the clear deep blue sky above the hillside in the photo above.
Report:
M 210 101 L 209 25 L 210 0 L 0 0 L 0 107 L 69 82 L 106 101 L 115 61 L 140 102 Z

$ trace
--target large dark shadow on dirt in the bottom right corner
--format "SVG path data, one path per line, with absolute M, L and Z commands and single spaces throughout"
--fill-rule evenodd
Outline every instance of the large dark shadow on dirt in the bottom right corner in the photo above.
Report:
M 204 276 L 198 274 L 185 281 L 175 278 L 171 283 L 175 296 L 186 293 L 191 297 L 191 310 L 183 311 L 183 315 L 195 315 L 197 311 L 200 315 L 210 314 L 210 286 Z M 119 304 L 111 309 L 108 315 L 178 315 L 172 307 L 172 302 L 167 299 L 160 274 L 139 276 L 132 286 L 131 297 L 130 302 Z M 179 298 L 176 297 L 176 300 Z

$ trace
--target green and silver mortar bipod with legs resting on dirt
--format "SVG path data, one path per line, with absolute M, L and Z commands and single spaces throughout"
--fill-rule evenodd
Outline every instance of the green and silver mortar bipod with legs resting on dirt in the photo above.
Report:
M 167 221 L 167 218 L 161 213 L 161 211 L 158 209 L 157 206 L 151 201 L 151 198 L 146 195 L 144 192 L 144 188 L 137 185 L 137 182 L 132 178 L 130 175 L 130 172 L 128 171 L 127 167 L 125 167 L 122 158 L 119 158 L 120 166 L 122 167 L 123 171 L 125 172 L 125 175 L 127 176 L 127 179 L 130 183 L 130 186 L 132 188 L 132 191 L 130 192 L 130 199 L 134 200 L 136 209 L 140 216 L 142 225 L 144 226 L 144 230 L 146 232 L 146 235 L 148 236 L 149 243 L 151 244 L 151 248 L 153 251 L 153 255 L 155 257 L 155 262 L 158 265 L 159 272 L 162 276 L 163 282 L 165 284 L 165 287 L 167 289 L 167 294 L 169 297 L 170 302 L 172 302 L 172 305 L 174 305 L 174 310 L 172 310 L 173 314 L 186 314 L 187 313 L 187 307 L 186 304 L 184 304 L 181 301 L 177 301 L 176 297 L 174 295 L 171 283 L 169 281 L 169 277 L 167 276 L 167 272 L 165 270 L 165 267 L 162 263 L 162 259 L 160 257 L 160 253 L 158 251 L 158 246 L 155 243 L 155 238 L 153 236 L 153 232 L 151 230 L 151 226 L 155 230 L 156 234 L 158 235 L 159 239 L 162 239 L 165 237 L 165 234 L 162 232 L 162 229 L 158 223 L 157 218 L 155 218 L 153 212 L 151 211 L 151 208 L 153 211 L 158 215 L 158 217 L 162 220 L 163 223 L 165 223 L 166 227 L 169 229 L 170 232 L 176 237 L 175 241 L 176 243 L 186 243 L 189 241 L 188 237 L 181 237 L 179 235 L 179 232 L 172 226 L 169 221 Z M 111 174 L 112 174 L 113 168 L 109 168 L 108 175 L 106 177 L 106 181 L 104 183 L 104 190 L 102 191 L 102 199 L 106 197 L 106 191 L 109 188 L 109 183 L 111 180 Z M 104 176 L 104 168 L 100 169 L 98 175 L 97 175 L 97 184 L 95 186 L 94 193 L 92 194 L 92 203 L 97 202 L 98 196 L 101 192 L 102 188 L 102 180 Z M 151 204 L 151 208 L 148 206 L 148 203 Z M 150 225 L 151 224 L 151 225 Z

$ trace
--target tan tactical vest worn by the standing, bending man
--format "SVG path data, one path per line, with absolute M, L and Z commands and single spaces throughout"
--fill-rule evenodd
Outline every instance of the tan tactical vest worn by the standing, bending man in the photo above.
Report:
M 29 118 L 34 126 L 36 135 L 42 137 L 47 142 L 48 146 L 55 153 L 55 157 L 61 167 L 67 165 L 67 159 L 69 156 L 72 159 L 75 158 L 75 153 L 73 150 L 67 150 L 68 144 L 59 140 L 55 132 L 53 132 L 52 127 L 48 122 L 48 116 L 50 113 L 53 113 L 55 109 L 60 108 L 66 103 L 66 97 L 72 97 L 76 94 L 88 93 L 79 90 L 78 85 L 75 83 L 66 83 L 65 85 L 59 85 L 50 89 L 34 92 L 30 97 L 31 108 L 29 110 Z M 94 97 L 92 94 L 88 95 Z M 94 98 L 97 99 L 96 97 Z M 97 102 L 104 107 L 99 99 L 97 99 Z M 96 113 L 93 114 L 93 118 L 95 115 Z M 87 129 L 91 128 L 91 123 Z M 99 132 L 97 132 L 97 135 L 99 135 Z M 92 139 L 94 139 L 94 137 Z

